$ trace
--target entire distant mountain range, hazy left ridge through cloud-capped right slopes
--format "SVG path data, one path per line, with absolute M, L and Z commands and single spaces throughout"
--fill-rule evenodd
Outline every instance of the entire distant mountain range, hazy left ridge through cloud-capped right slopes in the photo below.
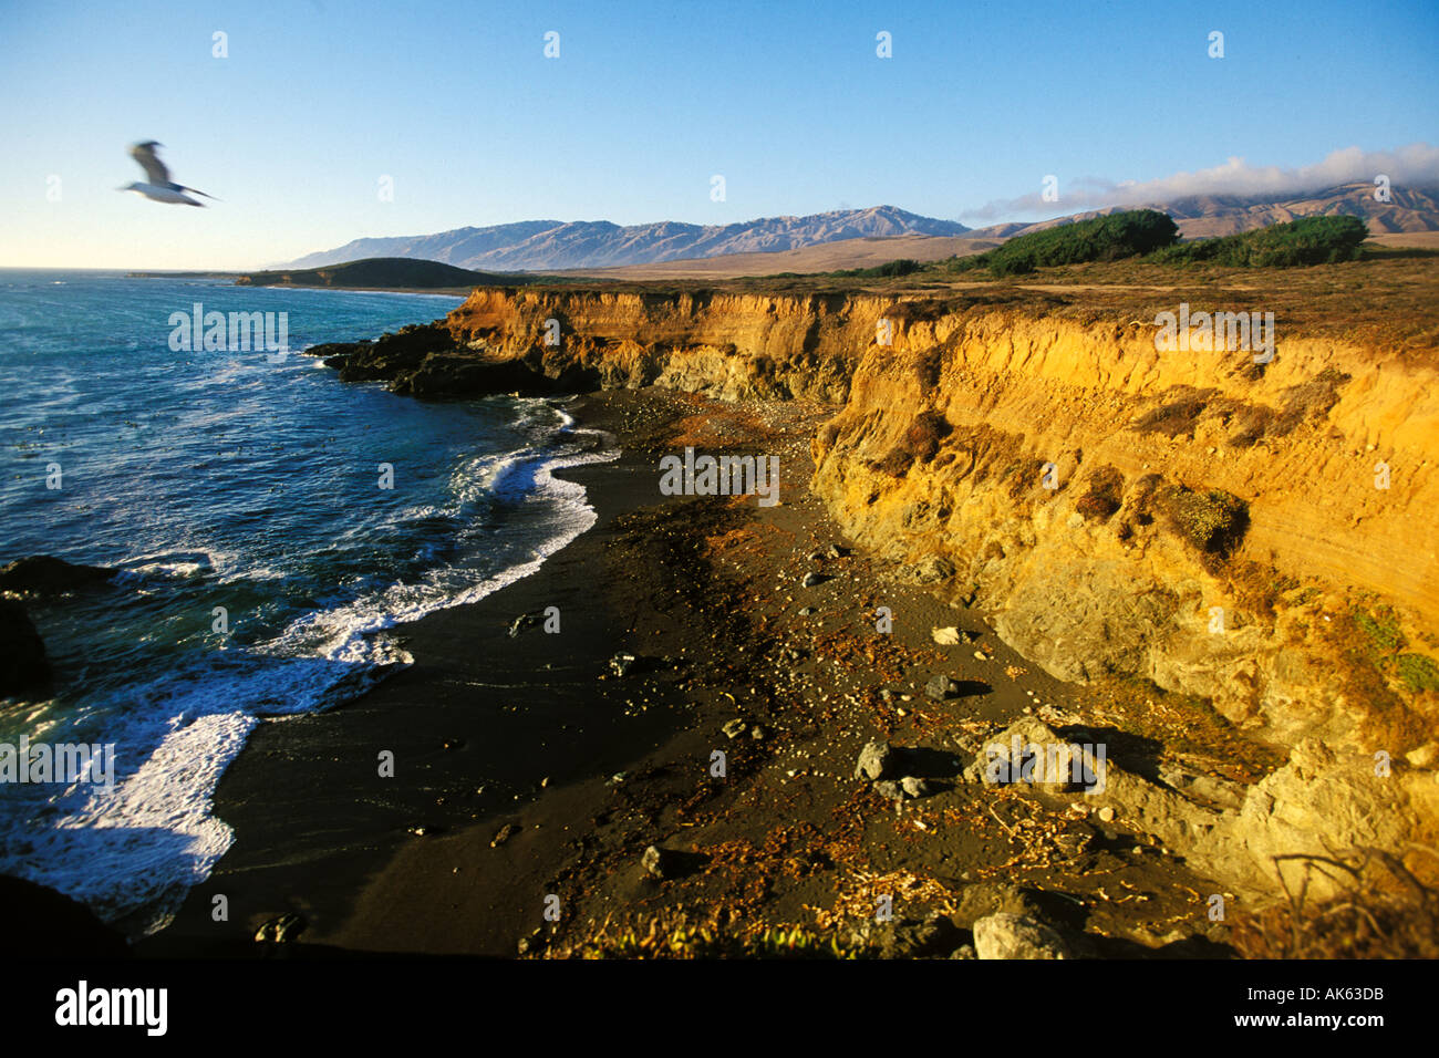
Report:
M 1390 202 L 1374 200 L 1373 184 L 1343 184 L 1289 196 L 1206 194 L 1148 203 L 1168 213 L 1186 239 L 1235 235 L 1308 216 L 1363 217 L 1371 233 L 1439 232 L 1439 189 L 1390 190 Z M 456 227 L 436 235 L 355 239 L 332 250 L 309 253 L 281 265 L 307 269 L 370 258 L 437 261 L 466 269 L 499 272 L 557 272 L 564 269 L 655 265 L 728 256 L 773 253 L 849 239 L 927 236 L 1007 239 L 1056 225 L 1118 213 L 1140 206 L 1112 206 L 1038 223 L 993 225 L 971 230 L 954 220 L 935 220 L 894 206 L 833 210 L 807 217 L 763 217 L 735 225 L 684 225 L 663 220 L 623 227 L 607 220 L 524 220 L 491 227 Z

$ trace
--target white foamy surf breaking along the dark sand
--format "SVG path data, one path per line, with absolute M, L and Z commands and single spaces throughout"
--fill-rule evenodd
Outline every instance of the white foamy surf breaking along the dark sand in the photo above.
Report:
M 525 413 L 534 419 L 540 409 Z M 573 425 L 568 415 L 560 416 L 566 428 Z M 131 931 L 164 927 L 233 841 L 230 828 L 212 815 L 214 787 L 259 718 L 328 708 L 412 664 L 386 629 L 478 602 L 538 570 L 596 521 L 584 487 L 555 478 L 555 471 L 617 455 L 567 446 L 548 455 L 525 448 L 475 456 L 453 475 L 453 505 L 416 507 L 401 517 L 455 517 L 504 475 L 528 465 L 532 489 L 524 502 L 548 508 L 528 559 L 485 576 L 462 566 L 432 569 L 413 583 L 394 583 L 295 620 L 255 648 L 207 652 L 190 666 L 128 688 L 125 701 L 108 702 L 124 717 L 114 789 L 72 787 L 56 797 L 53 789 L 14 787 L 33 799 L 24 812 L 32 823 L 23 848 L 6 849 L 6 869 L 86 903 L 105 920 L 124 920 Z M 177 551 L 141 556 L 125 567 L 193 576 L 226 571 L 235 561 L 210 551 Z M 46 720 L 35 737 L 59 730 Z

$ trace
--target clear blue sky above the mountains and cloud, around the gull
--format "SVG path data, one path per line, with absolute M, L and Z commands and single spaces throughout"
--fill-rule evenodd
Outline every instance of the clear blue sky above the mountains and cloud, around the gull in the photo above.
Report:
M 0 0 L 0 24 L 10 266 L 252 268 L 465 225 L 882 203 L 979 226 L 1046 174 L 1061 214 L 1084 178 L 1439 144 L 1433 0 Z M 117 194 L 151 138 L 223 202 Z

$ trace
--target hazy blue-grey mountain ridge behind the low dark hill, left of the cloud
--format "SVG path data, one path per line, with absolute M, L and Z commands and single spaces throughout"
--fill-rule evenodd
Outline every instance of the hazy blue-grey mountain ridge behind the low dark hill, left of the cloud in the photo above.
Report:
M 722 226 L 665 220 L 622 227 L 607 220 L 525 220 L 492 227 L 456 227 L 436 235 L 355 239 L 282 268 L 319 268 L 363 258 L 423 258 L 459 268 L 534 272 L 789 250 L 840 239 L 953 236 L 967 230 L 953 220 L 921 217 L 894 206 L 835 210 L 807 217 L 764 217 Z

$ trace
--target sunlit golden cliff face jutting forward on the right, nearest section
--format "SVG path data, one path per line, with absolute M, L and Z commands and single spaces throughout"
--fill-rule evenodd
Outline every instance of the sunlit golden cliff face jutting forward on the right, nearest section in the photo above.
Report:
M 1439 628 L 1432 383 L 1304 340 L 1261 371 L 1157 353 L 1143 324 L 914 321 L 861 360 L 814 487 L 863 543 L 950 559 L 1056 677 L 1137 672 L 1281 744 L 1406 751 L 1432 725 L 1373 715 L 1344 652 L 1366 596 Z

